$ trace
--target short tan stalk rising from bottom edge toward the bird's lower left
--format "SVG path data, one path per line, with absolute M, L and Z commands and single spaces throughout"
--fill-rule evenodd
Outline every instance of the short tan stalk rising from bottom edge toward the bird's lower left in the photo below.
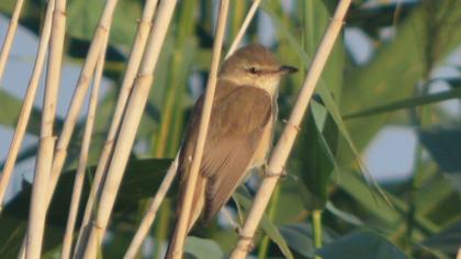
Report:
M 135 236 L 130 244 L 128 250 L 126 251 L 124 259 L 134 259 L 136 257 L 137 251 L 139 250 L 140 245 L 143 245 L 144 239 L 147 236 L 147 233 L 153 225 L 155 217 L 157 215 L 157 211 L 160 207 L 161 202 L 164 201 L 165 196 L 167 195 L 168 190 L 175 179 L 175 176 L 178 171 L 178 157 L 179 154 L 176 156 L 175 161 L 168 169 L 167 174 L 165 174 L 164 180 L 161 181 L 160 187 L 158 188 L 157 193 L 155 194 L 154 200 L 151 201 L 149 209 L 147 210 L 146 214 L 144 215 L 143 221 L 140 222 L 139 227 L 136 230 Z

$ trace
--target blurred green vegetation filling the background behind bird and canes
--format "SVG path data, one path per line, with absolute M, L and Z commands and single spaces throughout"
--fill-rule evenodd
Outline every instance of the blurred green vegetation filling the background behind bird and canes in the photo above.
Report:
M 14 2 L 0 1 L 0 12 L 9 16 Z M 140 0 L 119 2 L 104 70 L 112 83 L 98 111 L 90 153 L 92 165 L 110 124 L 143 8 Z M 178 4 L 139 127 L 137 144 L 142 148 L 133 151 L 119 193 L 104 258 L 123 256 L 146 202 L 166 172 L 168 158 L 178 150 L 189 111 L 203 91 L 213 43 L 212 2 L 187 0 Z M 367 40 L 346 41 L 342 35 L 334 48 L 291 154 L 288 177 L 274 192 L 255 239 L 252 255 L 258 258 L 313 258 L 316 254 L 324 258 L 453 258 L 457 254 L 461 244 L 461 120 L 460 111 L 450 113 L 440 103 L 457 99 L 459 102 L 461 97 L 461 65 L 449 59 L 461 45 L 461 1 L 398 2 L 353 1 L 346 29 L 360 32 Z M 255 20 L 246 34 L 246 43 L 259 43 L 270 35 L 271 26 L 274 41 L 269 44 L 273 53 L 301 70 L 281 86 L 277 134 L 296 100 L 336 3 L 262 1 L 256 16 L 259 22 Z M 226 47 L 249 4 L 250 1 L 232 1 Z M 102 5 L 103 1 L 69 0 L 67 63 L 83 61 Z M 45 7 L 45 0 L 26 1 L 21 24 L 40 35 Z M 370 54 L 364 60 L 359 59 L 356 52 L 366 53 L 367 42 Z M 440 78 L 435 72 L 439 68 L 456 70 L 458 76 Z M 447 90 L 435 93 L 431 89 L 440 83 Z M 0 110 L 9 111 L 0 113 L 2 126 L 14 128 L 20 105 L 21 100 L 0 89 Z M 34 111 L 29 134 L 37 135 L 40 114 L 40 110 Z M 46 258 L 60 248 L 82 125 L 83 122 L 74 134 L 69 171 L 60 180 L 49 210 Z M 360 177 L 366 169 L 358 159 L 373 137 L 391 125 L 412 128 L 417 135 L 411 177 L 382 183 L 393 206 Z M 397 151 L 400 146 L 394 148 Z M 20 161 L 34 155 L 34 148 L 29 148 Z M 91 171 L 90 168 L 90 179 Z M 245 214 L 259 178 L 256 176 L 251 184 L 237 192 L 236 202 L 228 204 L 232 212 Z M 30 191 L 30 184 L 24 182 L 0 217 L 1 258 L 18 254 Z M 159 247 L 165 247 L 168 239 L 177 192 L 173 189 L 169 193 L 150 233 L 151 249 L 145 249 L 143 258 L 159 258 Z M 237 233 L 223 222 L 196 226 L 194 237 L 188 239 L 187 251 L 196 258 L 225 257 Z

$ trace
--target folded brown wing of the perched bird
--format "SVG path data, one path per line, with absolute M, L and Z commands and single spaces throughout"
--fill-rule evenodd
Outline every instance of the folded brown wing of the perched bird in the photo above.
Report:
M 189 169 L 185 167 L 190 167 L 202 105 L 203 98 L 198 101 L 192 113 L 181 151 L 180 171 L 185 173 L 182 183 L 188 177 Z M 206 187 L 205 190 L 196 190 L 193 199 L 195 205 L 199 205 L 203 199 L 200 193 L 206 192 L 205 221 L 217 213 L 245 177 L 263 131 L 271 121 L 271 111 L 272 101 L 265 90 L 227 81 L 218 82 L 200 168 L 199 181 L 205 181 Z M 196 212 L 194 214 L 196 216 Z

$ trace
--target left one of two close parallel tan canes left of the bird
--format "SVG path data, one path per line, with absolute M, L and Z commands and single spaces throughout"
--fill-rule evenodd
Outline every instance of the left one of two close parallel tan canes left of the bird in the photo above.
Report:
M 133 88 L 133 82 L 136 77 L 136 72 L 139 68 L 140 59 L 144 54 L 144 49 L 146 47 L 147 37 L 151 27 L 153 18 L 157 8 L 158 0 L 147 0 L 146 4 L 144 7 L 143 16 L 139 21 L 139 25 L 137 27 L 136 37 L 133 44 L 132 52 L 130 54 L 130 60 L 128 65 L 126 67 L 125 76 L 123 78 L 117 104 L 115 106 L 115 112 L 112 119 L 112 124 L 108 133 L 108 138 L 104 144 L 104 148 L 102 150 L 98 168 L 94 174 L 93 183 L 90 190 L 90 195 L 88 196 L 86 210 L 85 210 L 85 216 L 83 221 L 81 223 L 81 227 L 76 247 L 79 247 L 80 240 L 82 236 L 85 235 L 86 226 L 88 225 L 91 213 L 93 212 L 93 203 L 97 193 L 100 193 L 101 191 L 101 182 L 103 179 L 103 173 L 106 169 L 106 164 L 109 160 L 109 157 L 112 154 L 113 145 L 115 142 L 116 133 L 120 128 L 120 122 L 122 121 L 123 112 L 125 111 L 126 102 L 128 100 L 130 92 Z

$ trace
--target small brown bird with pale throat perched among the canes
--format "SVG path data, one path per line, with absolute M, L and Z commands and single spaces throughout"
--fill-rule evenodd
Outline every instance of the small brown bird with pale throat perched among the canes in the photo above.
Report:
M 296 68 L 280 65 L 261 45 L 243 47 L 225 60 L 218 74 L 188 233 L 202 211 L 204 221 L 210 221 L 229 200 L 246 172 L 265 164 L 277 119 L 278 86 L 283 76 L 295 71 Z M 202 108 L 203 95 L 195 103 L 179 156 L 182 193 L 178 211 L 199 135 Z M 170 244 L 166 258 L 171 257 L 172 247 Z

